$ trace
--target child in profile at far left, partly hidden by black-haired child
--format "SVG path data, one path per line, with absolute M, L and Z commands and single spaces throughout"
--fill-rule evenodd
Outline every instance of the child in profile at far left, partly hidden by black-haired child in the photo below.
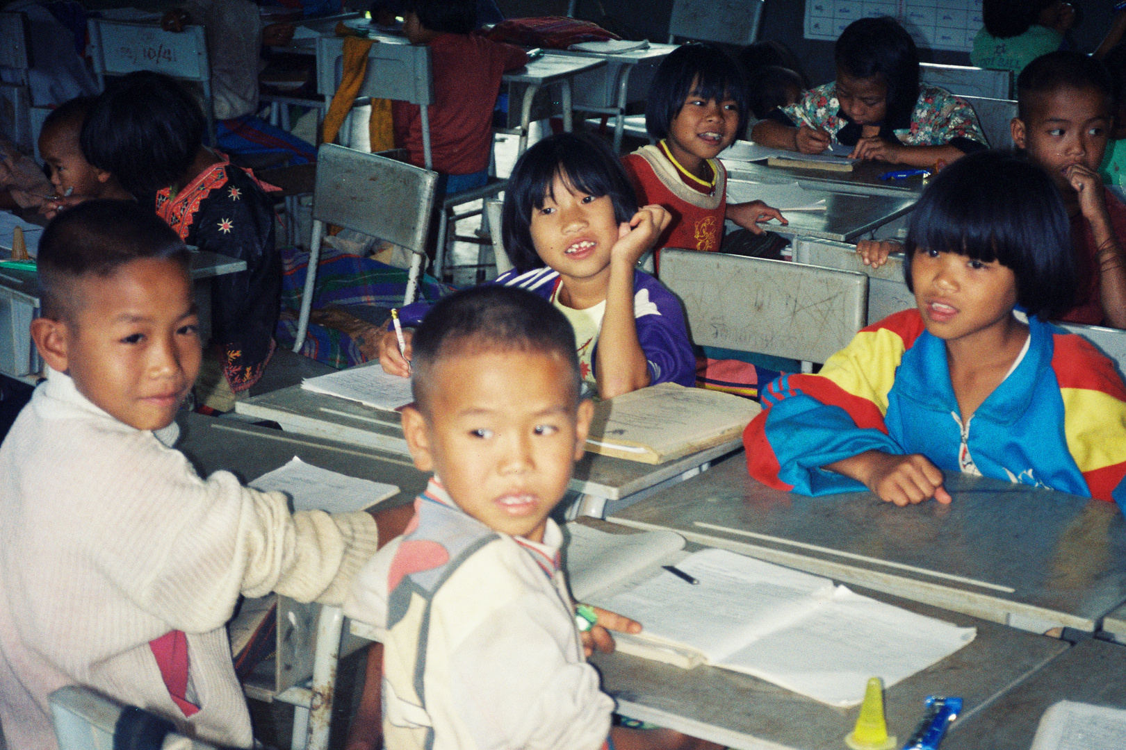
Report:
M 55 195 L 45 198 L 39 213 L 53 218 L 60 209 L 90 198 L 132 198 L 114 174 L 98 169 L 82 154 L 82 124 L 95 97 L 79 97 L 60 105 L 44 118 L 39 129 L 39 155 L 51 171 Z M 64 199 L 70 200 L 64 200 Z

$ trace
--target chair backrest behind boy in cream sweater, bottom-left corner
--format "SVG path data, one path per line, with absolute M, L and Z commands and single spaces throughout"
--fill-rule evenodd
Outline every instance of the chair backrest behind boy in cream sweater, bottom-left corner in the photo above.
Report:
M 51 694 L 59 750 L 113 750 L 122 705 L 90 688 L 68 685 Z M 132 747 L 132 746 L 126 746 Z M 214 744 L 169 734 L 162 750 L 207 750 Z

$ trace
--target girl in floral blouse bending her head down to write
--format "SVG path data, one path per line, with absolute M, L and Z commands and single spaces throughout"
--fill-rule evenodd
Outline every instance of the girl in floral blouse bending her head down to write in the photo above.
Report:
M 751 130 L 758 143 L 817 154 L 852 146 L 852 159 L 927 168 L 985 148 L 964 99 L 919 83 L 919 51 L 892 18 L 861 18 L 837 39 L 837 80 L 771 112 Z

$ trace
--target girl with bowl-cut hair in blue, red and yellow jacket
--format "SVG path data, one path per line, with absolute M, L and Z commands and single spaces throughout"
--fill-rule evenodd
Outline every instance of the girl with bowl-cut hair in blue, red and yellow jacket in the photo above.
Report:
M 1074 288 L 1052 183 L 1000 152 L 939 172 L 905 246 L 918 309 L 868 326 L 817 374 L 770 383 L 743 433 L 751 476 L 906 505 L 949 503 L 942 472 L 960 471 L 1126 507 L 1126 385 L 1046 322 Z

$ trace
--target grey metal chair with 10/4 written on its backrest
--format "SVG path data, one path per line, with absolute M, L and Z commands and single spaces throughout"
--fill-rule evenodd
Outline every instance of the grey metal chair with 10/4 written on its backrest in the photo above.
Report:
M 207 143 L 215 145 L 215 102 L 211 88 L 211 61 L 203 26 L 185 26 L 184 31 L 166 31 L 152 24 L 91 18 L 89 54 L 98 87 L 106 89 L 106 75 L 154 71 L 203 88 L 207 116 Z

